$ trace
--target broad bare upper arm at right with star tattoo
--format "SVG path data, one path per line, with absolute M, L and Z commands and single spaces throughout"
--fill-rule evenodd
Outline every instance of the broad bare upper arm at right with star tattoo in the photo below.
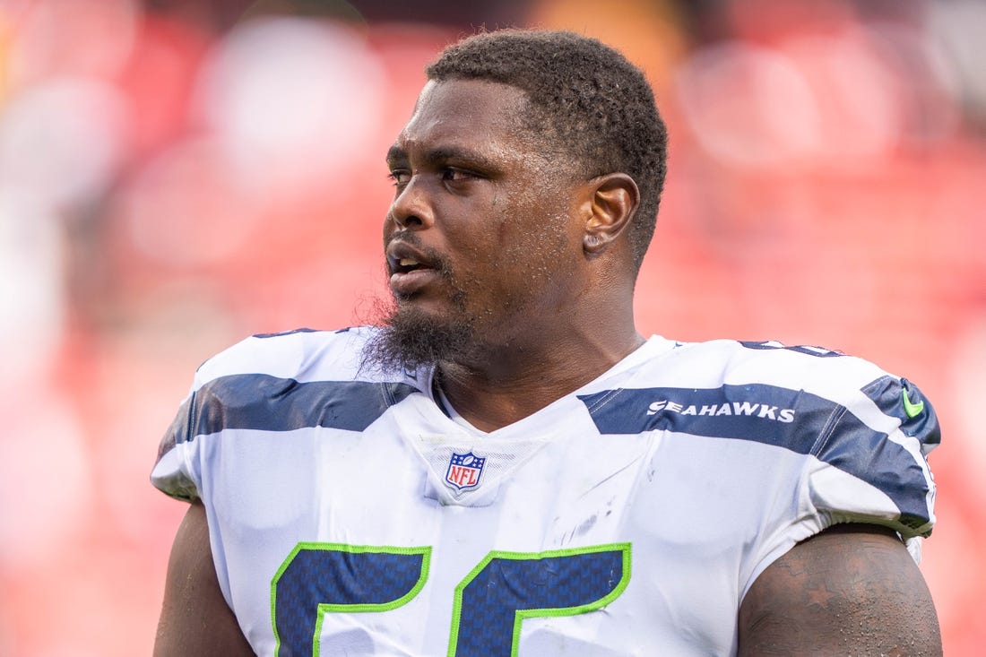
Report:
M 893 532 L 837 525 L 753 583 L 739 654 L 937 656 L 942 637 L 921 571 Z

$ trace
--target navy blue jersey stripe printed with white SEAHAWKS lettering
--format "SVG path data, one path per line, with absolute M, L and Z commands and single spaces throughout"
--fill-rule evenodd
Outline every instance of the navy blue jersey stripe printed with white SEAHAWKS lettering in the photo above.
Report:
M 920 464 L 885 433 L 834 401 L 762 384 L 622 389 L 579 399 L 601 434 L 666 430 L 812 455 L 879 488 L 896 504 L 908 527 L 929 522 L 929 484 Z

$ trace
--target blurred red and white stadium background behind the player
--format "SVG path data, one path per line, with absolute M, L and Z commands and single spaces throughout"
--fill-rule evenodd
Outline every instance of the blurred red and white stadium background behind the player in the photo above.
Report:
M 936 403 L 922 570 L 946 654 L 981 654 L 986 5 L 391 5 L 0 0 L 0 655 L 150 653 L 183 505 L 148 474 L 192 372 L 372 317 L 384 154 L 481 25 L 600 37 L 652 79 L 642 332 L 838 348 Z

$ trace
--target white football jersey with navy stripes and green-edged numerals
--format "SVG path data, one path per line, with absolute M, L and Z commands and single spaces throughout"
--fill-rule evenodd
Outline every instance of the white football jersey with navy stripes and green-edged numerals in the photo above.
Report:
M 430 371 L 361 368 L 371 330 L 247 338 L 162 443 L 152 480 L 203 501 L 257 654 L 730 655 L 798 542 L 934 524 L 935 412 L 866 361 L 655 336 L 483 433 Z

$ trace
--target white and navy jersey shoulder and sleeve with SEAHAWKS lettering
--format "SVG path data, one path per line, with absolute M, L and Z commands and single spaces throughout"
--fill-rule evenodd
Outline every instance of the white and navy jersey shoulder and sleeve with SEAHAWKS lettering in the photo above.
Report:
M 867 360 L 778 342 L 677 342 L 607 387 L 581 398 L 600 433 L 657 430 L 677 443 L 793 453 L 818 528 L 931 531 L 925 456 L 940 440 L 935 411 L 916 386 Z

